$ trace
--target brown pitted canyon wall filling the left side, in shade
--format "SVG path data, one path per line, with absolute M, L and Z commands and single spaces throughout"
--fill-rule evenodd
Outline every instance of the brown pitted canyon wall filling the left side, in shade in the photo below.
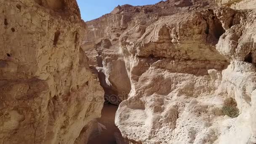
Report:
M 104 102 L 76 1 L 1 0 L 0 9 L 0 144 L 73 144 Z

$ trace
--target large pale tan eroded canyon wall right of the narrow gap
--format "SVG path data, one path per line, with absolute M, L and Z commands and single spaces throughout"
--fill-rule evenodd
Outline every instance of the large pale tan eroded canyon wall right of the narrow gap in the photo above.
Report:
M 256 143 L 255 17 L 254 0 L 167 0 L 118 6 L 87 22 L 84 50 L 92 53 L 96 43 L 104 82 L 121 87 L 108 66 L 125 62 L 131 91 L 115 117 L 123 137 L 133 144 Z

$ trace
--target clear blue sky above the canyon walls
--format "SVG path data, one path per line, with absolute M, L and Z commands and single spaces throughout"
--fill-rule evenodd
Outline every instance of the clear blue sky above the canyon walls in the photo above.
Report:
M 77 0 L 82 19 L 90 21 L 110 13 L 117 5 L 151 5 L 161 0 Z

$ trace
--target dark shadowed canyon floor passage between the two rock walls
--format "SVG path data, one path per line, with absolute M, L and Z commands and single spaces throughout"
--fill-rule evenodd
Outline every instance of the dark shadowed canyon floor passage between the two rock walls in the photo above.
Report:
M 91 139 L 88 144 L 123 144 L 118 142 L 122 136 L 119 129 L 115 126 L 115 112 L 117 108 L 118 106 L 113 104 L 104 104 L 101 111 L 101 118 L 98 118 L 97 122 L 98 127 L 102 124 L 106 126 L 106 129 L 102 128 L 101 132 L 96 131 L 91 133 Z

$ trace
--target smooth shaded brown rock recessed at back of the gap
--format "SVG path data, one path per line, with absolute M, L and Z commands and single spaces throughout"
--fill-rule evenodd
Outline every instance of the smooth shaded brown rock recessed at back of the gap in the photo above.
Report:
M 102 39 L 99 43 L 94 45 L 98 54 L 96 56 L 98 66 L 97 73 L 100 85 L 105 92 L 105 101 L 119 105 L 123 100 L 127 99 L 128 93 L 131 91 L 131 82 L 128 78 L 125 62 L 123 60 L 112 59 L 112 63 L 105 61 L 104 57 L 106 53 L 104 53 L 104 49 L 109 49 L 111 45 L 108 39 Z M 108 67 L 112 68 L 109 69 Z

